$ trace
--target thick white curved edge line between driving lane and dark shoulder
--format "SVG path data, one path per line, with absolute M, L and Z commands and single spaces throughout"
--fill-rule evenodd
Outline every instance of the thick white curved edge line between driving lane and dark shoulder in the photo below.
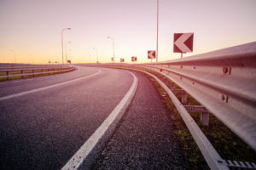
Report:
M 125 97 L 119 102 L 114 110 L 110 113 L 107 119 L 102 122 L 102 125 L 98 127 L 89 139 L 80 147 L 80 149 L 72 156 L 72 158 L 67 161 L 66 165 L 61 168 L 61 170 L 76 170 L 80 167 L 80 165 L 84 162 L 86 157 L 90 154 L 90 151 L 96 146 L 97 142 L 102 138 L 103 134 L 106 133 L 108 127 L 113 123 L 116 117 L 119 115 L 121 111 L 124 111 L 127 105 L 127 102 L 131 101 L 130 99 L 133 98 L 135 91 L 137 90 L 137 77 L 129 71 L 129 73 L 133 77 L 133 82 L 131 84 L 131 88 L 125 94 Z

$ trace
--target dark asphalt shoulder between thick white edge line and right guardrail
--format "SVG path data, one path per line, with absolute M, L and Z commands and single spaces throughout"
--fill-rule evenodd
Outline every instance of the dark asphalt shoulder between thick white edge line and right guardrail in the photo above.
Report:
M 137 94 L 91 169 L 189 169 L 160 94 L 136 76 Z

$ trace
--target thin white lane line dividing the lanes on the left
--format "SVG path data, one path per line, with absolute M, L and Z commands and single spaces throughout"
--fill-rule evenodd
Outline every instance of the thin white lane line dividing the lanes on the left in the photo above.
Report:
M 57 83 L 57 84 L 53 84 L 53 85 L 50 85 L 50 86 L 47 86 L 47 87 L 44 87 L 44 88 L 37 88 L 37 89 L 29 90 L 29 91 L 26 91 L 26 92 L 21 92 L 20 94 L 12 94 L 12 95 L 9 95 L 9 96 L 4 96 L 4 97 L 0 98 L 0 101 L 3 101 L 5 99 L 12 99 L 12 98 L 19 97 L 19 96 L 26 95 L 26 94 L 32 94 L 32 93 L 39 92 L 39 91 L 42 91 L 42 90 L 46 90 L 46 89 L 49 89 L 49 88 L 55 88 L 55 87 L 58 87 L 58 86 L 61 86 L 61 85 L 64 85 L 64 84 L 67 84 L 67 83 L 70 83 L 70 82 L 77 82 L 77 81 L 83 80 L 85 78 L 96 76 L 97 74 L 99 74 L 101 72 L 102 72 L 101 70 L 97 70 L 96 73 L 94 73 L 92 75 L 89 75 L 89 76 L 86 76 L 86 77 L 80 77 L 80 78 L 73 79 L 73 80 L 70 80 L 70 81 L 67 81 L 67 82 L 60 82 L 60 83 Z

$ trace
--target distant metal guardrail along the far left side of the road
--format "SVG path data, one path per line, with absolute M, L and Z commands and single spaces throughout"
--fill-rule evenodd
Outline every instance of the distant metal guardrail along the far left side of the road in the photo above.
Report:
M 9 65 L 0 64 L 0 79 L 12 77 L 29 77 L 73 71 L 73 65 Z

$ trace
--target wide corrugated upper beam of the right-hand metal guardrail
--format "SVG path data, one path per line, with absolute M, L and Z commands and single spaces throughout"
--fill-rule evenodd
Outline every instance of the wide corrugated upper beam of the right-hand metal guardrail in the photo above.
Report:
M 256 42 L 140 66 L 177 83 L 256 150 Z

